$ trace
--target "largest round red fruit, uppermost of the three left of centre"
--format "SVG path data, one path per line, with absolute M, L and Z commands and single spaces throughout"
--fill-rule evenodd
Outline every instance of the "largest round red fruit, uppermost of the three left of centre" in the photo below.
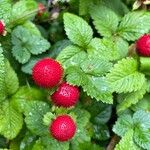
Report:
M 32 69 L 34 82 L 43 88 L 53 88 L 59 84 L 63 76 L 62 66 L 54 59 L 44 58 Z

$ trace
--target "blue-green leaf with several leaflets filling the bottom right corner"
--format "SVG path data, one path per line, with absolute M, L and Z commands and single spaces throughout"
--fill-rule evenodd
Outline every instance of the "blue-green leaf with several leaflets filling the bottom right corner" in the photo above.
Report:
M 127 142 L 126 140 L 133 137 L 134 142 L 138 146 L 143 149 L 149 149 L 150 113 L 139 110 L 133 114 L 133 117 L 127 114 L 122 115 L 117 120 L 113 131 L 123 137 L 118 148 L 123 147 L 124 143 Z M 134 149 L 136 148 L 133 142 L 130 144 L 132 144 Z

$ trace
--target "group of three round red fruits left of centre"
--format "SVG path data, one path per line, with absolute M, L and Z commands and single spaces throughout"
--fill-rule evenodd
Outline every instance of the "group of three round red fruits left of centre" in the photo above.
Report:
M 75 106 L 79 100 L 79 89 L 66 82 L 60 83 L 62 76 L 62 66 L 51 58 L 38 61 L 32 69 L 32 78 L 38 86 L 43 88 L 58 86 L 51 96 L 52 102 L 56 106 L 66 108 Z M 58 141 L 68 141 L 75 135 L 76 123 L 69 115 L 61 115 L 52 121 L 49 131 Z

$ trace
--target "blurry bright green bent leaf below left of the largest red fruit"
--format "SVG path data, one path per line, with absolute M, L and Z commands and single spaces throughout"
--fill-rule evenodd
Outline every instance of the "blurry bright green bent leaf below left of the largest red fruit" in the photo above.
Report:
M 12 96 L 11 103 L 13 104 L 14 108 L 17 109 L 19 112 L 24 112 L 26 105 L 29 101 L 35 100 L 45 100 L 46 93 L 35 87 L 28 87 L 22 86 L 19 90 Z

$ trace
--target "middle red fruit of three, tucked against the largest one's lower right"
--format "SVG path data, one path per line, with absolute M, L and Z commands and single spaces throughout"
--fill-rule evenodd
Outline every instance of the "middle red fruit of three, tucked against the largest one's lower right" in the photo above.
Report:
M 56 106 L 71 107 L 77 103 L 79 95 L 78 87 L 63 82 L 59 85 L 57 91 L 52 94 L 51 99 Z

